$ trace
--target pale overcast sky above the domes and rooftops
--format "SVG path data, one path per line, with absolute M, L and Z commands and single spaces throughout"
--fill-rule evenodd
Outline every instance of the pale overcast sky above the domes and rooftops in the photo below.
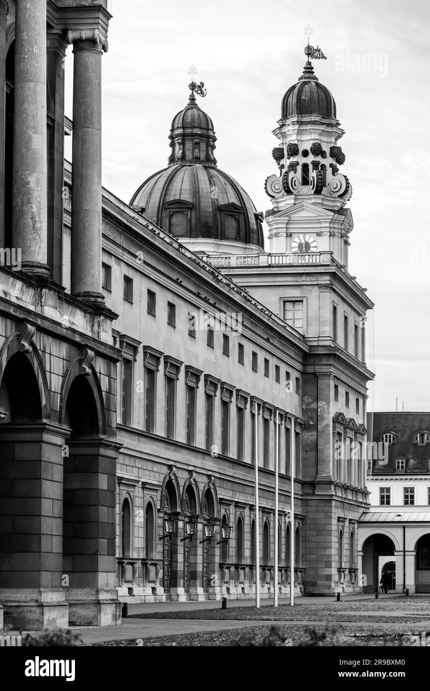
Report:
M 304 65 L 304 28 L 326 60 L 353 186 L 349 272 L 375 303 L 369 410 L 430 410 L 430 3 L 399 0 L 113 0 L 103 56 L 104 186 L 130 201 L 166 167 L 173 116 L 188 100 L 188 68 L 208 89 L 200 107 L 217 135 L 218 166 L 253 199 L 264 180 L 282 96 Z M 368 60 L 366 56 L 375 56 Z M 70 58 L 70 49 L 68 53 Z M 370 69 L 369 69 L 370 68 Z M 72 60 L 66 61 L 72 115 Z M 70 158 L 70 147 L 66 151 Z

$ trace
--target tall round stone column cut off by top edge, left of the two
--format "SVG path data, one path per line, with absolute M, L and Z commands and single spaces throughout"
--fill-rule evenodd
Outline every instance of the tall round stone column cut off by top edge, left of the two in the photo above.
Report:
M 46 0 L 17 0 L 15 10 L 12 245 L 22 270 L 46 264 Z

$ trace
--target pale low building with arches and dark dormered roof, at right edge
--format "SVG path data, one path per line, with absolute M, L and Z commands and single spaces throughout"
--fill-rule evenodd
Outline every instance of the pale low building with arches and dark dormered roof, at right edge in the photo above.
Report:
M 430 414 L 369 413 L 370 511 L 358 526 L 364 588 L 430 591 Z

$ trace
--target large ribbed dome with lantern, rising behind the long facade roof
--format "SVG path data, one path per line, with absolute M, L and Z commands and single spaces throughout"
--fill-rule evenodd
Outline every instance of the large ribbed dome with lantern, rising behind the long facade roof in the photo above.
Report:
M 130 205 L 196 252 L 243 252 L 240 245 L 261 251 L 262 214 L 240 184 L 217 168 L 213 122 L 197 106 L 197 85 L 190 89 L 188 104 L 173 118 L 168 167 L 141 184 Z

